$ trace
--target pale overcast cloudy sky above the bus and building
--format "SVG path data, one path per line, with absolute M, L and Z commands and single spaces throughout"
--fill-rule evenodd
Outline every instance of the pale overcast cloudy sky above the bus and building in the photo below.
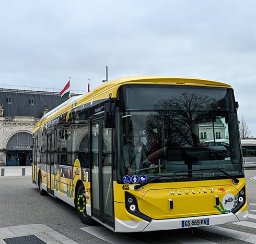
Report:
M 0 88 L 133 75 L 229 83 L 256 137 L 256 1 L 0 0 Z

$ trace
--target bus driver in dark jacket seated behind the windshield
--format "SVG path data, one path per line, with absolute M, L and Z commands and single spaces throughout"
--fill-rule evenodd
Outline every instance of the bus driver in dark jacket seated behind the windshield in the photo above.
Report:
M 158 167 L 147 159 L 145 147 L 141 143 L 138 131 L 129 135 L 129 141 L 123 147 L 123 155 L 126 174 L 133 175 L 139 169 Z

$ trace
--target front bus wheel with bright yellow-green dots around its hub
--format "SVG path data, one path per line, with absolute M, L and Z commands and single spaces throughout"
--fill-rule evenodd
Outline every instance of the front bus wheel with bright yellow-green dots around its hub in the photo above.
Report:
M 86 225 L 92 224 L 92 219 L 86 213 L 86 195 L 85 195 L 85 188 L 83 184 L 80 184 L 77 189 L 76 194 L 76 210 L 80 221 Z

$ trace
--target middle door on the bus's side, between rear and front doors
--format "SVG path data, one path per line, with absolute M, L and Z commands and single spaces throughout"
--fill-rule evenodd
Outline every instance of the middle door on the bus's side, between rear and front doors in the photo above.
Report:
M 54 131 L 47 135 L 47 153 L 46 153 L 46 176 L 47 176 L 47 191 L 54 195 Z

